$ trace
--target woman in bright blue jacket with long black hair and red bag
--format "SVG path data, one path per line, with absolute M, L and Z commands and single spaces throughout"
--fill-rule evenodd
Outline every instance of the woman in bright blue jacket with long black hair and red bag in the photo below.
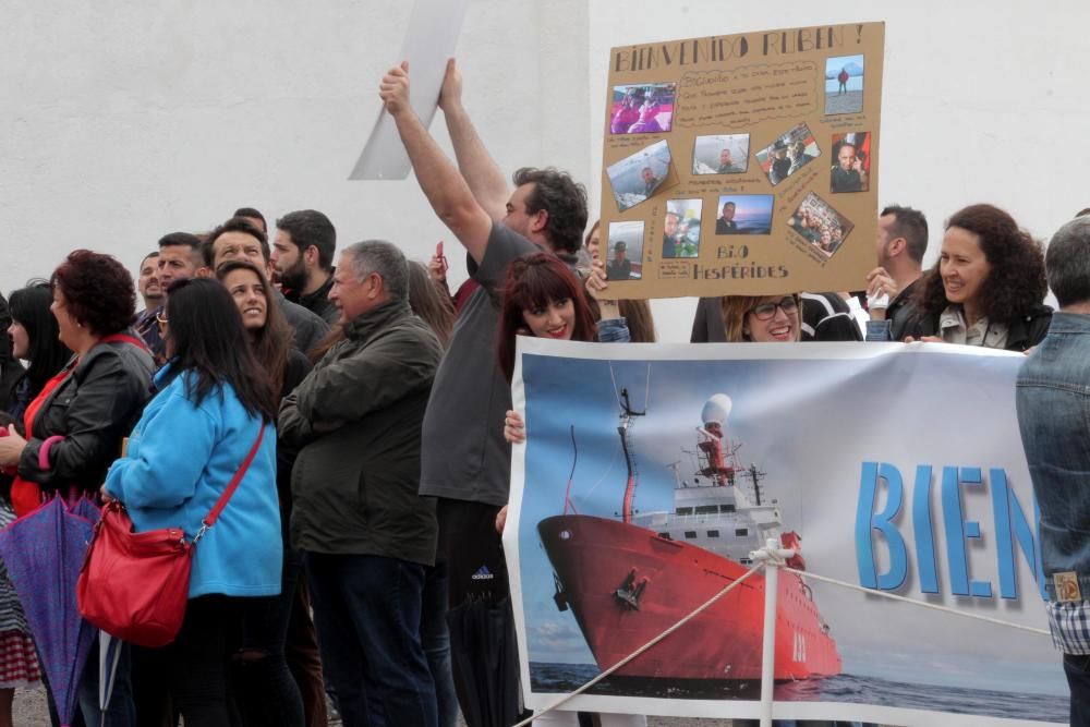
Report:
M 264 427 L 227 507 L 195 546 L 185 620 L 167 680 L 189 727 L 231 724 L 228 669 L 247 608 L 280 592 L 276 399 L 230 293 L 215 280 L 174 282 L 160 318 L 168 364 L 104 490 L 137 532 L 182 528 L 192 540 Z

